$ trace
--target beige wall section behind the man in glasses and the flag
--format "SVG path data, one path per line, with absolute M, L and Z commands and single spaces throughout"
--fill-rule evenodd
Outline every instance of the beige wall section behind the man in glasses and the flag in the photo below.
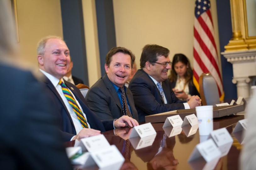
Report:
M 194 1 L 192 0 L 113 0 L 117 46 L 130 49 L 139 65 L 146 44 L 162 45 L 184 53 L 192 62 Z M 211 1 L 214 28 L 218 28 L 216 0 Z M 219 52 L 218 29 L 215 40 Z

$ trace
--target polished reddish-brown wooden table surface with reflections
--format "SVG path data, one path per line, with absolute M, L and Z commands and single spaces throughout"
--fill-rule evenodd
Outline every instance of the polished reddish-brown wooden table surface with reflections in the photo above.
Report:
M 244 119 L 243 115 L 232 115 L 214 119 L 214 130 L 226 127 L 234 140 L 229 153 L 220 158 L 214 169 L 238 169 L 238 159 L 242 146 L 231 132 L 238 120 L 242 119 Z M 121 169 L 143 170 L 203 168 L 205 163 L 202 160 L 199 160 L 198 163 L 196 163 L 199 167 L 194 167 L 195 164 L 188 163 L 188 158 L 193 149 L 198 143 L 200 143 L 198 130 L 194 135 L 187 137 L 187 133 L 183 129 L 181 134 L 169 138 L 162 128 L 163 123 L 153 123 L 152 125 L 157 132 L 153 145 L 138 150 L 135 150 L 127 139 L 131 133 L 130 128 L 110 130 L 103 133 L 109 141 L 109 144 L 115 145 L 124 156 L 125 162 Z M 97 166 L 76 168 L 98 169 Z

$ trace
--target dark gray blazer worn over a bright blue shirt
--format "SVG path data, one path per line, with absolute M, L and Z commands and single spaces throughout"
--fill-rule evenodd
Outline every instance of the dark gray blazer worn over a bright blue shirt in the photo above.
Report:
M 138 121 L 132 93 L 128 88 L 126 88 L 126 98 L 131 108 L 132 117 Z M 86 103 L 101 120 L 113 121 L 124 115 L 115 88 L 106 74 L 90 88 L 86 95 Z

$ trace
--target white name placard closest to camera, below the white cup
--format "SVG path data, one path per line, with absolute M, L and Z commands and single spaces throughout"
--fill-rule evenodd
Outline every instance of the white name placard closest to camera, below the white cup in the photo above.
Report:
M 202 143 L 197 144 L 188 161 L 191 162 L 199 157 L 203 157 L 206 162 L 218 161 L 221 156 L 220 150 L 215 145 L 212 139 L 208 139 Z

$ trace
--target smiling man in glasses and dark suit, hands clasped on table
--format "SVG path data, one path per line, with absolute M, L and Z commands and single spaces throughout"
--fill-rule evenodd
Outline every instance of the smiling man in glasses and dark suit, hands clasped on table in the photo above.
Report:
M 171 69 L 170 51 L 160 45 L 145 45 L 140 59 L 141 69 L 129 84 L 139 115 L 139 122 L 145 116 L 177 109 L 193 109 L 201 105 L 198 96 L 191 96 L 187 103 L 176 98 L 168 79 Z

